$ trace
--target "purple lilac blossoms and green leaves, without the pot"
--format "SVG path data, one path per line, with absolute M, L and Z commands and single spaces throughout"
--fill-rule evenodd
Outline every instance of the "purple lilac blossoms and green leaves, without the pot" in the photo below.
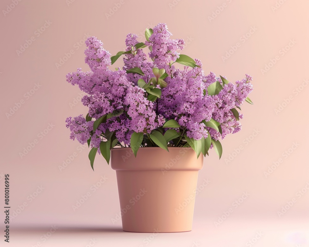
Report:
M 131 147 L 135 156 L 139 147 L 191 147 L 197 157 L 214 148 L 221 157 L 219 140 L 241 130 L 238 110 L 244 101 L 252 104 L 248 74 L 235 84 L 212 72 L 205 75 L 200 60 L 179 53 L 184 40 L 171 39 L 166 24 L 146 29 L 145 36 L 138 42 L 129 33 L 126 50 L 112 57 L 100 40 L 89 37 L 85 62 L 90 71 L 78 68 L 66 76 L 87 94 L 82 98 L 87 115 L 67 118 L 66 127 L 71 139 L 91 147 L 92 169 L 95 154 L 109 163 L 115 146 Z M 122 55 L 122 69 L 109 69 Z

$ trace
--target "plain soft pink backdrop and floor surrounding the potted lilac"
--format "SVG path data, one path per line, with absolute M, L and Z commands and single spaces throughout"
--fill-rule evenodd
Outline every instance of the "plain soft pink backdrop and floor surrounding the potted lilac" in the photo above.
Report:
M 2 176 L 10 174 L 11 214 L 17 214 L 10 225 L 11 246 L 87 246 L 93 238 L 95 246 L 251 246 L 248 241 L 255 241 L 256 232 L 262 237 L 254 246 L 309 246 L 309 86 L 302 86 L 309 79 L 308 1 L 13 2 L 0 4 L 0 185 L 3 188 Z M 5 12 L 10 4 L 14 8 Z M 69 139 L 66 117 L 86 114 L 87 108 L 65 75 L 78 67 L 89 69 L 83 54 L 88 36 L 98 37 L 115 55 L 125 48 L 127 33 L 144 41 L 145 28 L 159 22 L 167 23 L 174 38 L 187 41 L 182 53 L 201 59 L 205 73 L 232 82 L 252 75 L 254 105 L 242 107 L 243 130 L 222 141 L 221 160 L 214 151 L 204 159 L 198 185 L 204 179 L 210 183 L 196 197 L 193 231 L 151 237 L 122 232 L 121 220 L 112 223 L 120 211 L 116 173 L 102 156 L 96 157 L 93 172 L 86 146 Z M 21 46 L 26 49 L 17 52 Z M 231 56 L 223 59 L 227 52 Z M 65 62 L 57 66 L 61 59 Z M 271 68 L 261 71 L 269 63 Z M 115 67 L 121 65 L 119 59 Z M 280 112 L 275 111 L 279 104 L 284 106 Z M 6 114 L 13 107 L 14 114 Z M 49 124 L 54 127 L 48 130 Z M 35 146 L 21 157 L 35 139 Z M 289 149 L 289 155 L 283 154 Z M 73 161 L 60 170 L 74 152 Z M 276 169 L 265 175 L 280 158 Z M 101 176 L 108 179 L 91 190 Z M 44 189 L 36 194 L 38 186 Z M 73 211 L 72 205 L 87 192 L 91 196 Z M 235 208 L 233 202 L 243 192 L 250 195 Z M 37 196 L 31 199 L 33 193 Z M 0 198 L 2 205 L 4 195 Z M 279 217 L 277 211 L 293 198 L 293 206 Z M 216 227 L 214 221 L 229 208 L 233 212 Z M 59 229 L 42 240 L 52 225 Z M 3 226 L 1 220 L 1 231 Z

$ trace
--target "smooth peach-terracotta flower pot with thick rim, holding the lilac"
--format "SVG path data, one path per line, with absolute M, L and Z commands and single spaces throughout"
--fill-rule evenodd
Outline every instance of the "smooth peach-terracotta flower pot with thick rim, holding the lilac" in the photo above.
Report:
M 111 151 L 116 170 L 122 228 L 127 232 L 192 230 L 195 191 L 203 156 L 191 148 L 131 148 Z

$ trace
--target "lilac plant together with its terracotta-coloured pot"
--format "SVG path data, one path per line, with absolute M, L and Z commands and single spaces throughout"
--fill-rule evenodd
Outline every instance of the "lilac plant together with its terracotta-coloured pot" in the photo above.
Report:
M 203 156 L 214 149 L 220 158 L 219 140 L 241 130 L 239 110 L 244 101 L 252 104 L 252 77 L 233 84 L 205 75 L 200 60 L 178 52 L 184 40 L 170 39 L 166 24 L 145 36 L 142 43 L 129 33 L 126 50 L 115 56 L 97 38 L 86 40 L 91 71 L 79 68 L 66 79 L 87 94 L 82 103 L 89 110 L 67 118 L 66 127 L 71 139 L 88 143 L 92 169 L 96 153 L 111 160 L 124 231 L 191 231 Z M 121 56 L 122 69 L 109 69 Z

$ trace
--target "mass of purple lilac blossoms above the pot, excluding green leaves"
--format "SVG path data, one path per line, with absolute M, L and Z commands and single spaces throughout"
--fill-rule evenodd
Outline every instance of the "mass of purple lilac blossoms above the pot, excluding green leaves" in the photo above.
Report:
M 86 121 L 82 115 L 67 118 L 66 127 L 70 128 L 71 139 L 77 139 L 81 144 L 90 139 L 91 147 L 100 152 L 101 141 L 110 133 L 121 146 L 129 145 L 133 132 L 147 136 L 160 128 L 164 134 L 167 128 L 162 127 L 169 119 L 175 119 L 180 125 L 177 132 L 195 140 L 208 135 L 214 140 L 224 139 L 227 134 L 241 130 L 241 124 L 231 110 L 240 108 L 253 90 L 252 77 L 246 74 L 246 78 L 235 84 L 223 83 L 212 72 L 205 75 L 198 59 L 194 60 L 193 68 L 176 68 L 173 63 L 180 57 L 184 40 L 170 39 L 171 35 L 166 24 L 159 23 L 153 28 L 149 41 L 144 42 L 150 48 L 148 55 L 152 61 L 148 61 L 143 48 L 136 47 L 138 36 L 129 33 L 125 39 L 124 66 L 115 71 L 108 68 L 112 64 L 111 54 L 103 48 L 103 43 L 95 37 L 86 40 L 85 62 L 91 71 L 83 72 L 78 68 L 76 72 L 68 73 L 66 80 L 87 93 L 82 103 L 88 107 L 88 117 L 92 120 Z M 142 73 L 126 73 L 137 67 Z M 161 88 L 150 80 L 155 77 L 153 68 L 165 70 L 166 87 Z M 138 86 L 139 79 L 160 89 L 161 97 L 154 102 L 149 100 L 149 90 Z M 208 86 L 215 82 L 220 83 L 222 90 L 209 95 Z M 94 131 L 93 120 L 104 116 L 107 116 L 106 120 Z M 241 118 L 243 115 L 239 113 Z M 222 133 L 207 126 L 210 120 L 220 124 Z

